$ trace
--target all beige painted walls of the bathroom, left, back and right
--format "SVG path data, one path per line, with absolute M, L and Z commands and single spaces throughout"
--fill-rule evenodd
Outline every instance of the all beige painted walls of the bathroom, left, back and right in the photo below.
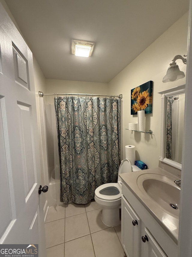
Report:
M 4 0 L 0 1 L 15 23 Z M 16 23 L 15 25 L 18 28 Z M 122 159 L 125 158 L 125 145 L 131 144 L 136 146 L 137 159 L 146 162 L 149 168 L 157 167 L 160 152 L 161 128 L 161 97 L 158 92 L 185 83 L 185 78 L 168 83 L 162 83 L 162 78 L 166 74 L 167 68 L 175 55 L 187 54 L 187 31 L 188 13 L 164 32 L 155 42 L 132 61 L 131 64 L 125 67 L 125 69 L 122 70 L 109 84 L 45 79 L 37 61 L 34 59 L 38 125 L 40 124 L 38 91 L 44 93 L 77 92 L 112 95 L 123 94 L 121 133 Z M 179 64 L 180 69 L 186 73 L 186 65 L 179 60 L 177 63 Z M 137 122 L 137 115 L 130 114 L 131 89 L 149 80 L 154 81 L 153 110 L 152 114 L 146 114 L 146 130 L 153 130 L 153 134 L 125 130 L 125 128 L 128 128 L 129 123 Z M 44 100 L 53 103 L 53 96 L 44 96 Z

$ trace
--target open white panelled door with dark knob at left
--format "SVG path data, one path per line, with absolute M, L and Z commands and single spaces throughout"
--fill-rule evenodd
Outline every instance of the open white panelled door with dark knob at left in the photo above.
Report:
M 32 52 L 0 3 L 0 243 L 45 255 Z

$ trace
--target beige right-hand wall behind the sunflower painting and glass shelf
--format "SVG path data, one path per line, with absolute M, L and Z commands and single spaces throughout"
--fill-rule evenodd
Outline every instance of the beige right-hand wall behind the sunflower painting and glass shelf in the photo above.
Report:
M 134 61 L 110 81 L 110 94 L 123 94 L 122 99 L 122 158 L 125 158 L 125 145 L 136 146 L 136 159 L 144 161 L 149 168 L 158 166 L 161 132 L 161 96 L 158 92 L 185 84 L 185 78 L 163 83 L 167 68 L 175 55 L 187 55 L 188 13 L 181 17 L 155 42 L 143 51 Z M 186 74 L 186 64 L 177 61 L 180 70 Z M 149 80 L 153 84 L 152 114 L 146 114 L 144 134 L 125 130 L 128 124 L 137 122 L 137 115 L 131 115 L 131 89 Z

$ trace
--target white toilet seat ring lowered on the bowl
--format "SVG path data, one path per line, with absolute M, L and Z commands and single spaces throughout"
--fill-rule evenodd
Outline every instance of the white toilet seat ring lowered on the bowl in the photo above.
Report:
M 110 195 L 110 194 L 113 195 Z M 122 190 L 118 183 L 107 183 L 95 189 L 95 195 L 103 200 L 117 200 L 121 198 Z

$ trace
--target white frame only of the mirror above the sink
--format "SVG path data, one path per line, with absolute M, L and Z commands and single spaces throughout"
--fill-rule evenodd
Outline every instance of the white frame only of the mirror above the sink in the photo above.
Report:
M 165 124 L 166 124 L 166 98 L 169 96 L 176 96 L 185 93 L 185 84 L 182 86 L 176 86 L 161 92 L 161 145 L 159 160 L 165 162 L 179 170 L 182 169 L 182 164 L 165 158 Z

